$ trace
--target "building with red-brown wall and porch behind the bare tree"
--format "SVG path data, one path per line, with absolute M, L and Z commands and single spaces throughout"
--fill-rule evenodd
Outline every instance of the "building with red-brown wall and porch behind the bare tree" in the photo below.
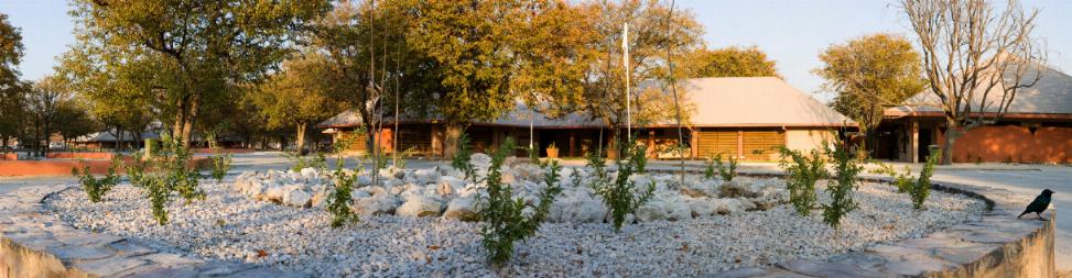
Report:
M 994 88 L 987 94 L 988 103 L 1000 102 L 1000 90 Z M 938 96 L 928 90 L 886 109 L 874 133 L 878 137 L 873 156 L 922 162 L 929 145 L 944 147 L 945 116 L 935 103 L 940 103 Z M 978 101 L 970 103 L 979 105 Z M 1019 90 L 1000 118 L 997 112 L 990 104 L 972 114 L 988 123 L 956 138 L 954 163 L 1072 163 L 1072 77 L 1043 68 L 1038 84 Z

